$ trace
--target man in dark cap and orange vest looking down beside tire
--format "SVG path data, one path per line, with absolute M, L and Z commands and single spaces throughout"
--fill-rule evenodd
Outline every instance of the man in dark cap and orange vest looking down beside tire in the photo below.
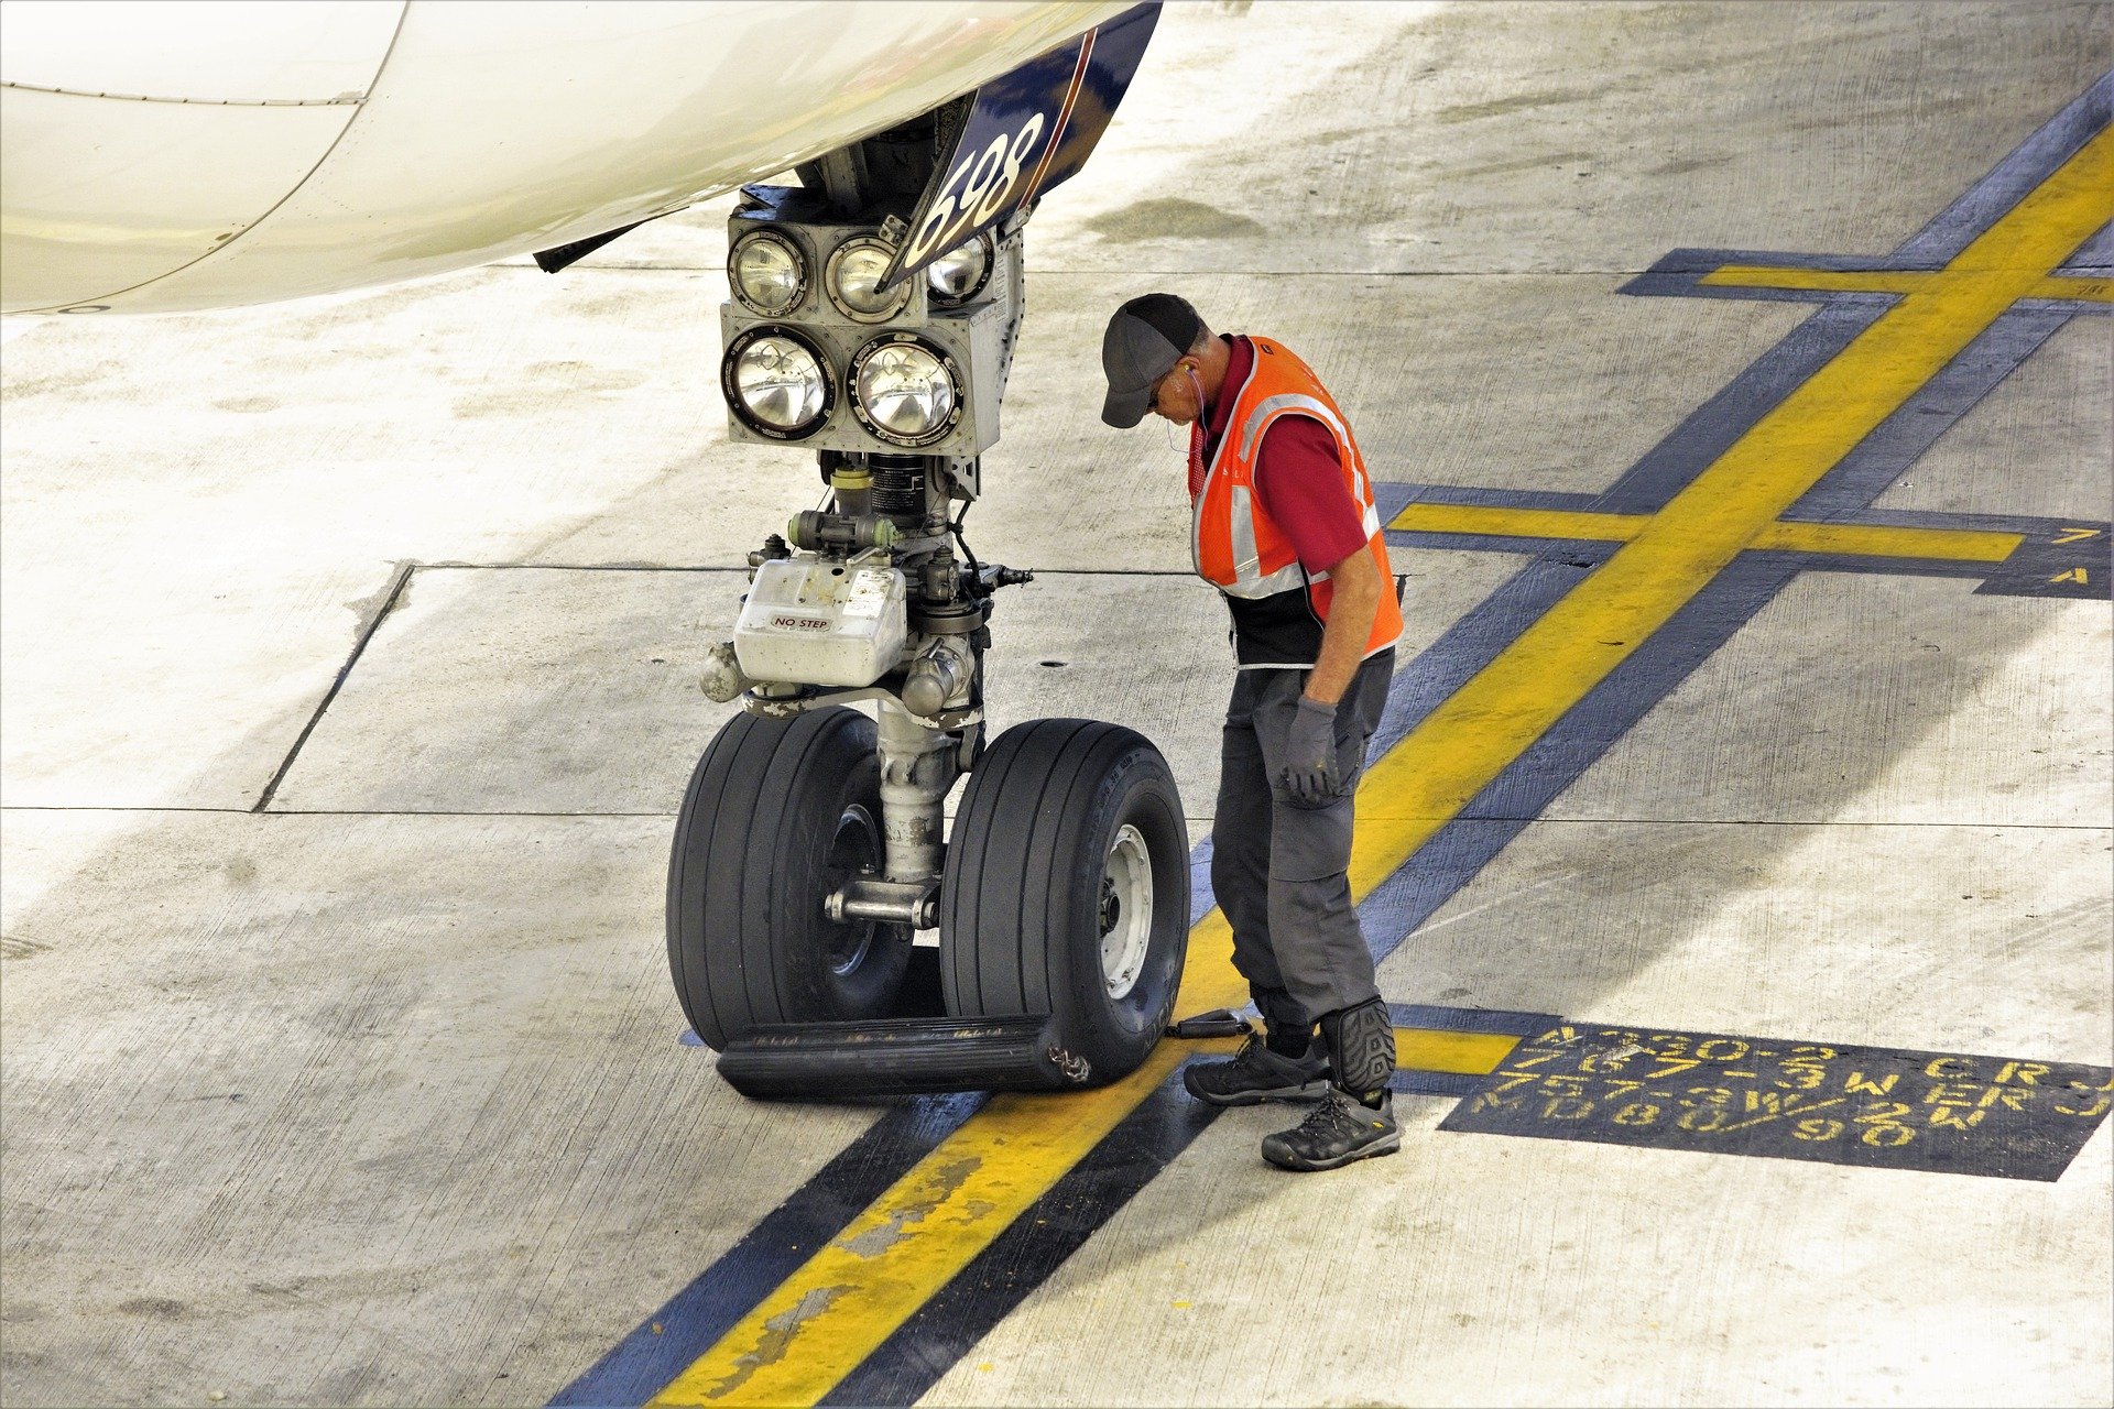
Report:
M 1395 1027 L 1351 904 L 1351 796 L 1402 608 L 1351 422 L 1281 342 L 1213 336 L 1173 294 L 1116 308 L 1101 420 L 1190 427 L 1190 549 L 1232 610 L 1239 663 L 1211 822 L 1211 889 L 1264 1035 L 1192 1063 L 1211 1105 L 1321 1096 L 1262 1158 L 1325 1170 L 1402 1145 Z M 1321 1041 L 1313 1039 L 1319 1025 Z

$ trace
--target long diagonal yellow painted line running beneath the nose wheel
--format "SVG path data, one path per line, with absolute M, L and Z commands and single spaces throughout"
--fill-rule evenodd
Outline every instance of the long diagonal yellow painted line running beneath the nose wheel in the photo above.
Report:
M 1905 294 L 1638 524 L 1368 769 L 1353 898 L 1395 875 L 2013 302 L 2038 298 L 2042 281 L 2110 218 L 2114 131 L 2101 131 L 1943 270 L 1958 277 Z M 1232 932 L 1213 910 L 1190 932 L 1182 1012 L 1247 1001 L 1230 957 Z M 1194 1050 L 1163 1041 L 1123 1082 L 1076 1096 L 994 1096 L 653 1403 L 816 1403 Z

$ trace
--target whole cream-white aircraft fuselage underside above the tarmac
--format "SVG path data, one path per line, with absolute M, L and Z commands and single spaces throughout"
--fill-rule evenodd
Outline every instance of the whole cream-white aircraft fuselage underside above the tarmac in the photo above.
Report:
M 926 112 L 1127 0 L 6 0 L 0 313 L 550 249 Z

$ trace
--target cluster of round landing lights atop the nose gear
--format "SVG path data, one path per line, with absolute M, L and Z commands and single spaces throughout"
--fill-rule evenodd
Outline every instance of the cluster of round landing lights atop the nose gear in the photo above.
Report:
M 801 226 L 820 247 L 843 230 Z M 835 239 L 822 260 L 822 294 L 848 323 L 873 327 L 913 313 L 911 279 L 882 289 L 894 247 L 871 232 Z M 934 260 L 920 281 L 928 311 L 953 311 L 972 300 L 998 264 L 989 234 L 977 234 Z M 727 285 L 753 315 L 772 319 L 734 334 L 721 363 L 721 387 L 736 418 L 778 442 L 799 442 L 829 425 L 839 389 L 865 435 L 915 450 L 945 439 L 962 418 L 966 387 L 960 357 L 937 330 L 888 327 L 856 342 L 835 365 L 820 330 L 786 321 L 810 300 L 812 260 L 803 241 L 780 228 L 736 234 L 727 251 Z M 909 321 L 917 321 L 911 317 Z M 930 319 L 926 319 L 930 321 Z

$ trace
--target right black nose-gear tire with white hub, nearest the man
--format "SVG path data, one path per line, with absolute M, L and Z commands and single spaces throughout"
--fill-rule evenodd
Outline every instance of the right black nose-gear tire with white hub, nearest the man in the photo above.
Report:
M 958 1018 L 1051 1016 L 1059 1065 L 1137 1069 L 1188 951 L 1188 832 L 1144 735 L 1082 718 L 1002 733 L 968 777 L 939 898 L 941 991 Z

